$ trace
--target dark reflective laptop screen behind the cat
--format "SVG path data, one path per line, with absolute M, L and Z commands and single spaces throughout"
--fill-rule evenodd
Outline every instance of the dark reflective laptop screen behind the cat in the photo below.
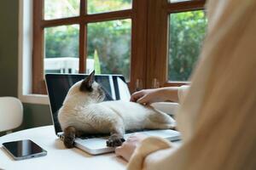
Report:
M 55 126 L 55 133 L 62 132 L 58 122 L 58 111 L 67 95 L 69 88 L 74 83 L 83 80 L 88 75 L 84 74 L 46 74 L 46 87 L 49 95 L 49 104 L 52 119 Z M 125 77 L 120 75 L 96 75 L 95 81 L 102 85 L 106 97 L 104 100 L 130 100 L 129 88 Z

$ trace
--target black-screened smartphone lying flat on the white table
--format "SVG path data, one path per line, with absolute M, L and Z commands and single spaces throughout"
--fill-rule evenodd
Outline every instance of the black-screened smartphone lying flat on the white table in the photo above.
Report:
M 47 155 L 46 150 L 30 139 L 3 143 L 3 149 L 7 150 L 9 155 L 15 160 L 24 160 Z

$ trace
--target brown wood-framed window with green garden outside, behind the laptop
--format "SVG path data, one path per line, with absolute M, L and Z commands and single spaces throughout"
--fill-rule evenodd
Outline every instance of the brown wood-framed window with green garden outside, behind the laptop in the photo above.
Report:
M 186 83 L 207 26 L 204 0 L 33 3 L 34 94 L 45 73 L 122 74 L 131 91 Z

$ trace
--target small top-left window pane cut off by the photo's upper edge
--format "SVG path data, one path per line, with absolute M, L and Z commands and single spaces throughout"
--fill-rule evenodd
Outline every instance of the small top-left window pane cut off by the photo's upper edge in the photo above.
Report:
M 79 15 L 79 0 L 44 0 L 44 20 Z

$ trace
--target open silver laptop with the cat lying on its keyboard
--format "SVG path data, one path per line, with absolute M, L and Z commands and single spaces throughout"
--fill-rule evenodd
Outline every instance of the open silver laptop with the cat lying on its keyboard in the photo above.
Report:
M 75 82 L 88 77 L 85 74 L 46 74 L 46 87 L 49 95 L 50 111 L 52 121 L 55 127 L 55 134 L 64 139 L 60 123 L 58 122 L 58 111 L 67 95 L 68 89 L 73 86 Z M 104 100 L 126 100 L 129 101 L 131 94 L 125 82 L 125 77 L 121 75 L 96 75 L 96 82 L 102 85 L 106 93 Z M 134 133 L 145 133 L 151 136 L 159 136 L 170 141 L 180 139 L 180 133 L 174 130 L 143 130 L 139 132 L 125 132 L 125 139 Z M 112 152 L 113 147 L 108 147 L 106 141 L 109 134 L 90 134 L 75 140 L 75 147 L 88 152 L 91 155 L 98 155 Z

